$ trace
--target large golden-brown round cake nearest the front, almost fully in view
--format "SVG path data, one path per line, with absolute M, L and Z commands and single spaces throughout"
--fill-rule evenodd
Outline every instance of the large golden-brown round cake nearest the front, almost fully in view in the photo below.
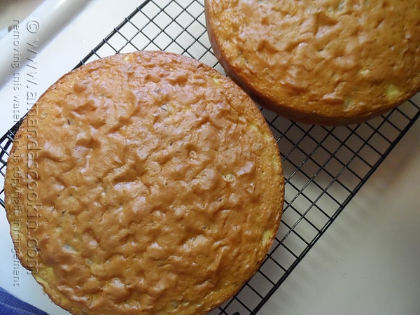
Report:
M 22 265 L 73 314 L 205 314 L 241 288 L 283 207 L 276 141 L 229 78 L 132 52 L 67 73 L 16 134 Z

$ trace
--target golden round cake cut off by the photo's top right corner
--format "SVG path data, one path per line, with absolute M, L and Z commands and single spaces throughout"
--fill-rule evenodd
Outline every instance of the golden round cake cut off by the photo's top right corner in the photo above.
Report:
M 420 1 L 205 0 L 226 73 L 303 123 L 379 116 L 420 90 Z

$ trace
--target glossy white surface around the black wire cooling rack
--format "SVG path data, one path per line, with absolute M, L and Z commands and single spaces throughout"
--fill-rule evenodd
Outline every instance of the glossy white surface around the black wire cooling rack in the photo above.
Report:
M 85 2 L 76 10 L 70 1 L 0 3 L 0 29 L 20 20 L 20 50 L 27 48 L 23 39 L 45 41 L 36 48 L 36 56 L 29 55 L 36 58 L 36 64 L 31 64 L 36 68 L 36 84 L 26 91 L 40 95 L 135 6 L 129 0 L 118 1 L 118 5 L 111 0 L 73 0 Z M 44 10 L 25 20 L 40 3 Z M 62 20 L 51 20 L 43 16 L 46 5 L 73 13 L 62 15 Z M 39 29 L 24 34 L 31 20 L 38 22 Z M 48 32 L 46 38 L 42 31 Z M 11 39 L 0 40 L 0 56 L 13 58 Z M 3 79 L 6 73 L 13 75 L 10 62 L 4 58 L 1 62 L 0 134 L 4 134 L 15 120 L 13 97 L 20 97 L 20 113 L 27 110 L 27 102 L 25 95 L 19 94 L 25 91 L 25 80 L 20 81 L 20 92 L 14 91 L 11 77 Z M 18 69 L 22 78 L 29 70 L 23 62 Z M 420 314 L 419 145 L 420 122 L 416 122 L 258 314 Z M 68 314 L 52 304 L 31 275 L 16 265 L 8 223 L 1 210 L 0 225 L 0 286 L 49 314 Z M 14 272 L 19 272 L 18 279 Z

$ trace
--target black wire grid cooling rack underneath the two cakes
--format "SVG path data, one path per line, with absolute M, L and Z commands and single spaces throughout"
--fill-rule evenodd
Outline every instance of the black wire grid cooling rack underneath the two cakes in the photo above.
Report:
M 223 72 L 211 52 L 202 0 L 144 1 L 77 66 L 117 52 L 167 50 Z M 77 67 L 76 66 L 76 67 Z M 360 125 L 302 125 L 262 109 L 283 156 L 286 200 L 271 251 L 241 291 L 211 314 L 256 314 L 420 115 L 420 97 Z M 0 174 L 19 123 L 0 138 Z M 4 192 L 0 203 L 4 207 Z

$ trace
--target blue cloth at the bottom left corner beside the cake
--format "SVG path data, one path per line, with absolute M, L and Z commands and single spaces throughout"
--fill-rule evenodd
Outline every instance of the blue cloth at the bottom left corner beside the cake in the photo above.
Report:
M 0 287 L 0 315 L 48 315 Z

